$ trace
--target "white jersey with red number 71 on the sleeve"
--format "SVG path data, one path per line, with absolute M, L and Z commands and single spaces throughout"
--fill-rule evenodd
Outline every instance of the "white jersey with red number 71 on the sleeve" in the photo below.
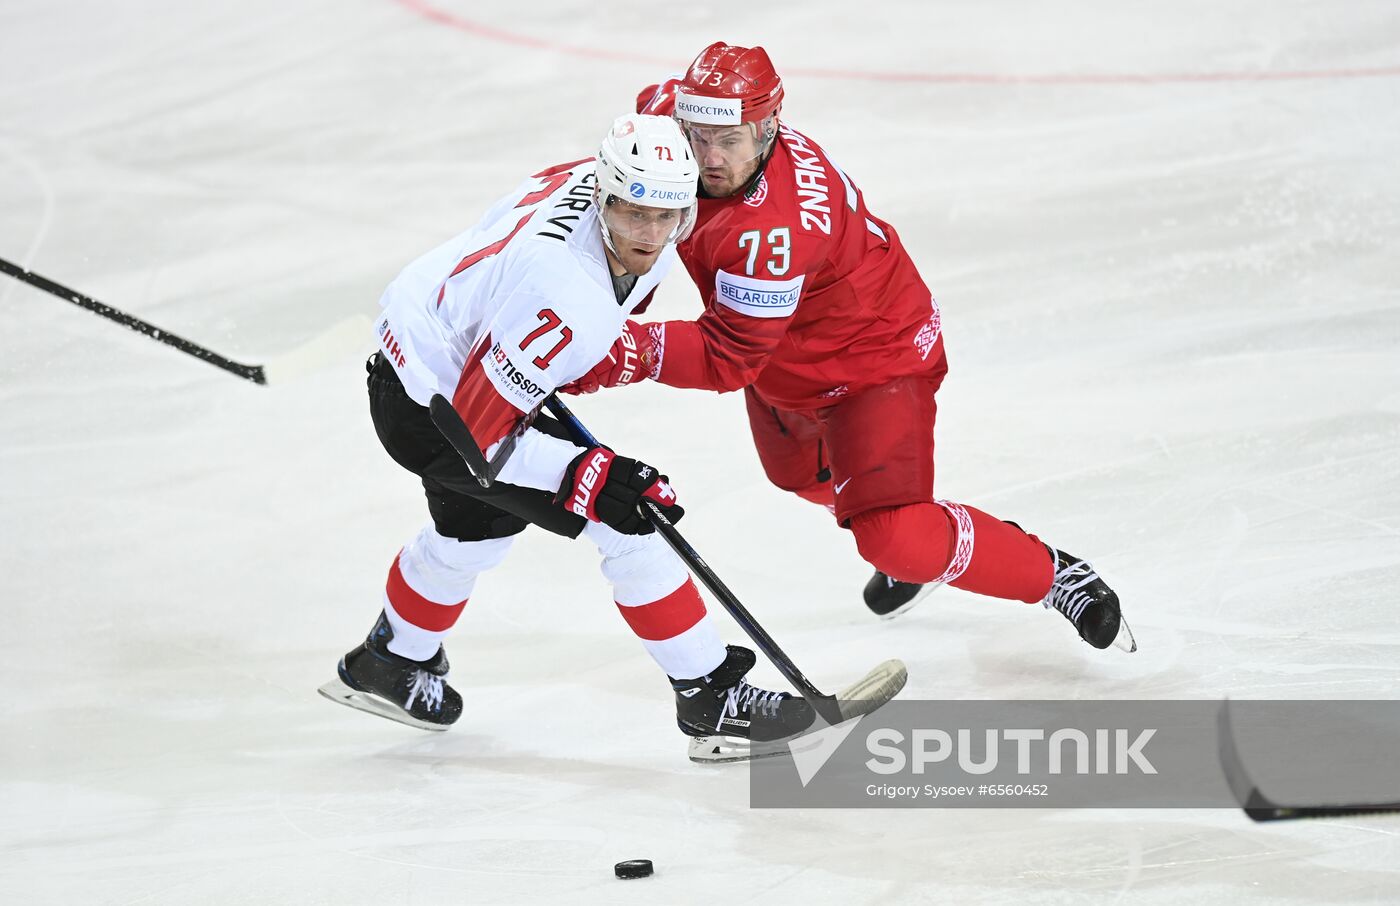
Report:
M 676 260 L 668 245 L 619 304 L 595 185 L 592 158 L 535 174 L 379 300 L 379 349 L 409 396 L 451 399 L 487 457 L 554 388 L 603 360 Z M 531 428 L 497 479 L 556 490 L 581 451 Z

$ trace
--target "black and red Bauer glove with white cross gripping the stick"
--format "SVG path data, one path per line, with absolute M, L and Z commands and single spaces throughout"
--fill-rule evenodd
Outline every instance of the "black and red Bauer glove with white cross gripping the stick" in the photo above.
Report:
M 651 500 L 672 522 L 686 514 L 676 503 L 666 476 L 645 462 L 619 457 L 606 447 L 594 447 L 564 469 L 554 503 L 623 535 L 648 535 L 655 529 L 641 514 L 641 501 Z

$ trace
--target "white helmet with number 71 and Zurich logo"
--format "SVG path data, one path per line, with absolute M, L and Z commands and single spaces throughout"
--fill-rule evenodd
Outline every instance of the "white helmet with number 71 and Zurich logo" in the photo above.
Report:
M 700 167 L 672 118 L 619 116 L 598 150 L 595 172 L 603 242 L 613 253 L 612 234 L 648 245 L 680 242 L 690 235 Z M 629 217 L 613 207 L 619 202 Z M 671 228 L 658 232 L 658 224 Z

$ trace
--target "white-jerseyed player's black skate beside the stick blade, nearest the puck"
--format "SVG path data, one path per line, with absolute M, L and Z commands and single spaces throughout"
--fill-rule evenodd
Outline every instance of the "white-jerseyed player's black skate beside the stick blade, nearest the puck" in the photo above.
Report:
M 707 676 L 671 678 L 676 723 L 692 737 L 690 760 L 745 762 L 787 753 L 781 744 L 750 745 L 755 728 L 759 739 L 778 741 L 811 727 L 816 713 L 791 693 L 750 686 L 745 676 L 753 669 L 753 653 L 739 646 L 728 648 L 728 657 Z

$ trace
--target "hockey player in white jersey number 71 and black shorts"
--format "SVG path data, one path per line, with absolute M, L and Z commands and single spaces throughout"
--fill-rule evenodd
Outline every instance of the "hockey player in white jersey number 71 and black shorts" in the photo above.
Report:
M 699 169 L 671 118 L 619 118 L 595 158 L 552 167 L 500 199 L 472 230 L 409 265 L 385 290 L 368 363 L 381 444 L 419 475 L 431 522 L 389 567 L 384 609 L 321 692 L 426 730 L 462 713 L 442 641 L 528 524 L 585 535 L 622 616 L 668 674 L 692 737 L 743 739 L 755 716 L 794 731 L 811 710 L 749 685 L 753 653 L 725 646 L 685 566 L 641 515 L 682 507 L 658 469 L 584 448 L 538 414 L 554 388 L 609 354 L 627 316 L 676 259 L 696 216 Z M 490 458 L 483 489 L 428 414 L 441 393 Z M 528 426 L 528 427 L 526 427 Z

